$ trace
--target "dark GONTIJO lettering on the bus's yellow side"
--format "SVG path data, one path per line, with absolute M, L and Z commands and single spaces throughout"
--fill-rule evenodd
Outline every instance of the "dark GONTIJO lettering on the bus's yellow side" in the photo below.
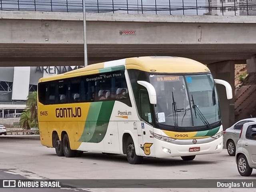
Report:
M 55 115 L 57 118 L 81 117 L 82 109 L 81 107 L 56 108 Z

